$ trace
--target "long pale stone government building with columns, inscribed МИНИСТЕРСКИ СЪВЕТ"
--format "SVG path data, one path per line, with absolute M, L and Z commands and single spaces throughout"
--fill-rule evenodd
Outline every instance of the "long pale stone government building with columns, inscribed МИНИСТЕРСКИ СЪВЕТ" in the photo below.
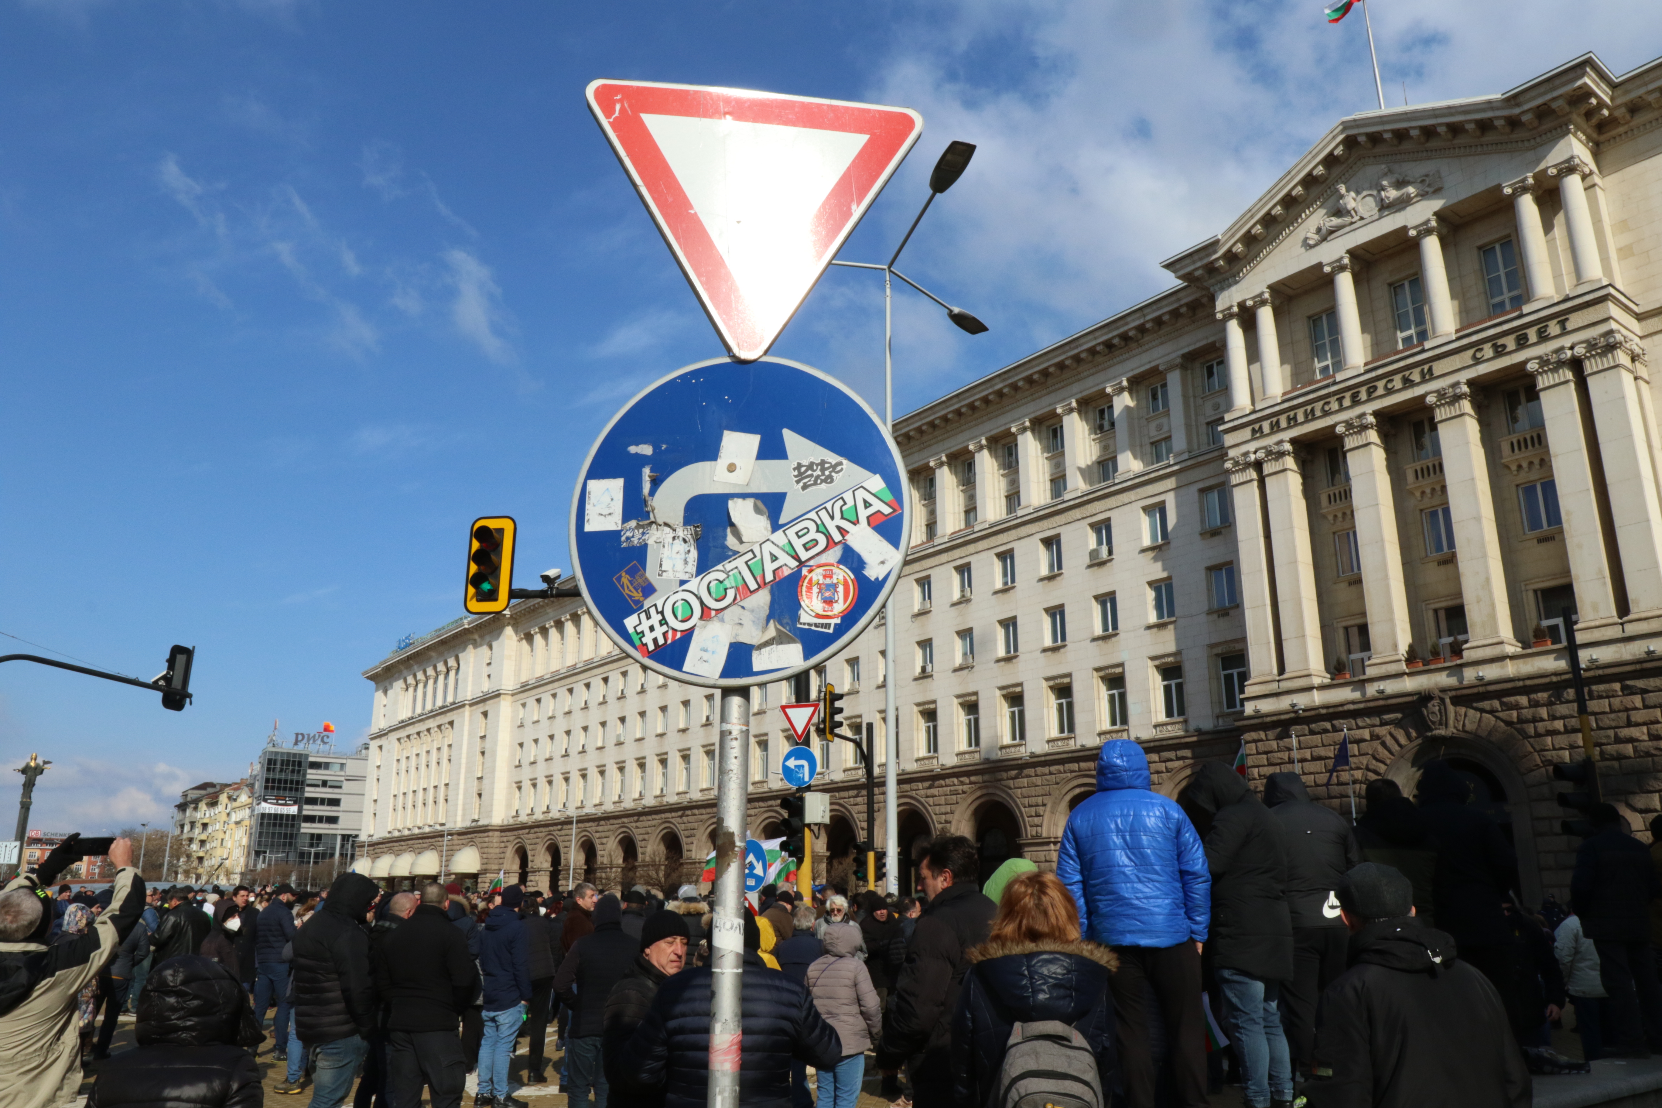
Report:
M 897 422 L 917 532 L 883 625 L 833 663 L 899 703 L 901 884 L 919 841 L 1049 862 L 1095 748 L 1155 787 L 1246 744 L 1256 781 L 1356 792 L 1448 757 L 1564 894 L 1551 766 L 1577 756 L 1574 613 L 1607 797 L 1662 784 L 1662 60 L 1341 120 L 1177 284 Z M 580 601 L 522 601 L 371 666 L 374 872 L 696 877 L 716 701 Z M 779 817 L 784 684 L 753 694 L 751 829 Z M 881 741 L 879 741 L 881 749 Z M 816 856 L 846 874 L 864 769 L 829 751 Z M 881 847 L 879 847 L 881 849 Z M 470 856 L 469 856 L 470 857 Z M 685 859 L 685 862 L 683 862 Z M 824 872 L 821 869 L 821 872 Z

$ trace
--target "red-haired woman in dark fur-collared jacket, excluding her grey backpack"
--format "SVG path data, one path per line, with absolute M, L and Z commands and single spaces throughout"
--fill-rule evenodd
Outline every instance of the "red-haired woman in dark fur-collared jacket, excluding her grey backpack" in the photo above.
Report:
M 967 957 L 952 1020 L 956 1101 L 987 1103 L 1015 1023 L 1055 1020 L 1090 1047 L 1107 1103 L 1117 1065 L 1109 973 L 1119 958 L 1107 947 L 1080 942 L 1079 907 L 1067 887 L 1054 874 L 1014 879 L 1004 887 L 992 934 Z

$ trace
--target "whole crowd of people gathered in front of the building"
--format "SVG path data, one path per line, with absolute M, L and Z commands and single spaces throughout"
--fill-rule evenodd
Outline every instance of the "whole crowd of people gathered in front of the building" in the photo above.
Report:
M 1351 824 L 1298 774 L 1203 762 L 1173 801 L 1130 741 L 1067 821 L 1055 872 L 929 842 L 919 895 L 768 885 L 743 919 L 740 1103 L 1526 1108 L 1531 1073 L 1662 1050 L 1662 817 L 1601 806 L 1571 904 L 1517 865 L 1451 766 Z M 706 1103 L 710 897 L 429 882 L 53 889 L 75 837 L 0 894 L 0 1103 L 525 1108 Z M 1584 1060 L 1551 1048 L 1572 1008 Z M 136 1048 L 111 1055 L 123 1012 Z M 100 1023 L 101 1017 L 101 1023 Z M 269 1047 L 266 1047 L 269 1040 Z M 510 1080 L 524 1040 L 520 1081 Z M 558 1060 L 558 1073 L 553 1061 Z M 876 1073 L 868 1075 L 868 1060 Z

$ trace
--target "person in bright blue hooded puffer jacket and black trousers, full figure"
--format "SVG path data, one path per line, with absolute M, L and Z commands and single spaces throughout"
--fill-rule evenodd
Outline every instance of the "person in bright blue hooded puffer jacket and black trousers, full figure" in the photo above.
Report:
M 1205 1108 L 1200 947 L 1212 922 L 1212 875 L 1195 826 L 1148 787 L 1148 759 L 1130 739 L 1102 744 L 1097 792 L 1067 817 L 1055 875 L 1074 894 L 1080 934 L 1120 955 L 1110 983 L 1130 1108 L 1153 1108 L 1145 982 L 1165 1015 L 1177 1100 Z

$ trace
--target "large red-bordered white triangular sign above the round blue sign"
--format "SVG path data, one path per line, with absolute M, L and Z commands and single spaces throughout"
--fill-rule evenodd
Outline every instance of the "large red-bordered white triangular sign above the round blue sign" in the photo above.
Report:
M 753 362 L 922 131 L 911 108 L 593 81 L 588 108 L 728 354 Z

